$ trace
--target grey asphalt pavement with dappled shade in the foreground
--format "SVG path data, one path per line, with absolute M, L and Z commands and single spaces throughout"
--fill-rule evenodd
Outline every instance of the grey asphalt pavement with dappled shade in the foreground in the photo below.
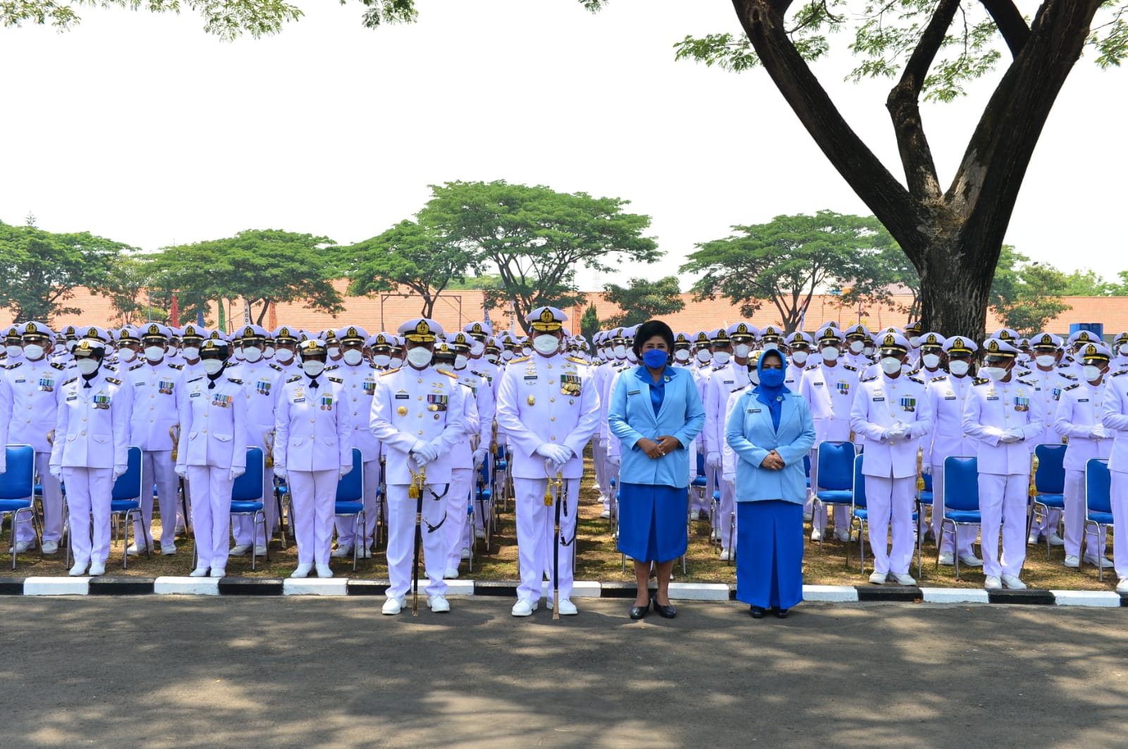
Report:
M 0 599 L 0 746 L 1128 746 L 1121 609 Z

